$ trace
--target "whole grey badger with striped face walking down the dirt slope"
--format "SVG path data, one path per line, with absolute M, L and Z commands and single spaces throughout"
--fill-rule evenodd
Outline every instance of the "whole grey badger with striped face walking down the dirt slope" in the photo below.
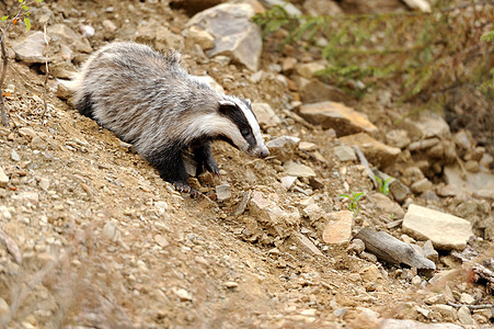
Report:
M 219 175 L 211 141 L 225 140 L 249 156 L 266 158 L 251 101 L 215 91 L 181 67 L 175 50 L 111 43 L 62 82 L 77 110 L 134 145 L 160 177 L 180 192 L 197 194 L 187 183 L 183 152 L 191 150 L 199 174 Z

